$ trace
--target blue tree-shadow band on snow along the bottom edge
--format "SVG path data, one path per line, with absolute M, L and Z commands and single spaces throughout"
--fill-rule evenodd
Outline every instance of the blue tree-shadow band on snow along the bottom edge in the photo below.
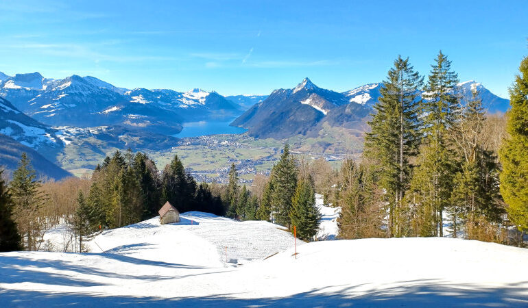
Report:
M 311 290 L 283 298 L 232 298 L 235 294 L 204 297 L 154 298 L 132 296 L 96 296 L 95 294 L 0 290 L 2 307 L 50 307 L 70 305 L 84 307 L 113 307 L 116 305 L 156 305 L 160 307 L 523 307 L 528 301 L 527 290 L 520 284 L 504 287 L 476 285 L 440 285 L 440 281 L 409 281 L 409 286 L 374 290 L 355 295 L 361 285 L 345 287 L 339 292 L 326 288 Z M 335 286 L 337 287 L 337 286 Z

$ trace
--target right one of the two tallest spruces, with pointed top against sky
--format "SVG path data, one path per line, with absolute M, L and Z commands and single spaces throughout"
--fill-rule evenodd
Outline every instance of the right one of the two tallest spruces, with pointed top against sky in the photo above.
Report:
M 416 196 L 423 195 L 416 214 L 422 215 L 420 220 L 422 231 L 429 230 L 427 226 L 432 219 L 435 226 L 434 234 L 443 236 L 443 212 L 449 205 L 453 189 L 453 161 L 455 155 L 449 142 L 448 133 L 453 127 L 458 110 L 459 98 L 457 97 L 457 74 L 451 70 L 451 61 L 442 54 L 442 51 L 431 66 L 431 73 L 424 88 L 424 135 L 425 139 L 420 148 L 418 169 L 416 177 L 411 180 L 411 190 Z M 425 182 L 425 183 L 424 183 Z M 425 190 L 424 190 L 425 189 Z M 425 195 L 427 194 L 427 198 Z M 407 198 L 411 203 L 416 198 Z M 425 213 L 424 211 L 433 211 Z M 418 221 L 415 219 L 415 221 Z M 422 235 L 426 235 L 422 233 Z

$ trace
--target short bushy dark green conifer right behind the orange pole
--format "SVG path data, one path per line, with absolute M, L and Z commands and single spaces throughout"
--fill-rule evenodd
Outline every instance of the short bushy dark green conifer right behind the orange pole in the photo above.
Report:
M 315 192 L 313 182 L 310 179 L 301 179 L 291 199 L 291 210 L 289 212 L 291 224 L 297 229 L 297 237 L 301 240 L 313 240 L 317 230 L 321 214 L 315 206 Z M 293 233 L 293 228 L 291 228 Z

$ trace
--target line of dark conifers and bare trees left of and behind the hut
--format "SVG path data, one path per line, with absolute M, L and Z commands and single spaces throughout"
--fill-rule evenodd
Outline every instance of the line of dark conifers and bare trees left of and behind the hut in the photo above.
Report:
M 59 223 L 71 226 L 78 251 L 85 251 L 83 240 L 97 231 L 157 216 L 167 201 L 180 213 L 224 215 L 228 208 L 221 189 L 197 184 L 177 155 L 159 172 L 145 153 L 116 151 L 95 168 L 91 179 L 43 183 L 23 154 L 12 181 L 0 179 L 0 251 L 51 249 L 53 243 L 44 243 L 43 235 Z

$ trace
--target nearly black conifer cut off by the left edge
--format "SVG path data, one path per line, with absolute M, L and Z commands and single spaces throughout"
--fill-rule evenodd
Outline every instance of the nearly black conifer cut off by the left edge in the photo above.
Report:
M 21 237 L 14 222 L 11 197 L 0 169 L 0 253 L 21 249 Z

